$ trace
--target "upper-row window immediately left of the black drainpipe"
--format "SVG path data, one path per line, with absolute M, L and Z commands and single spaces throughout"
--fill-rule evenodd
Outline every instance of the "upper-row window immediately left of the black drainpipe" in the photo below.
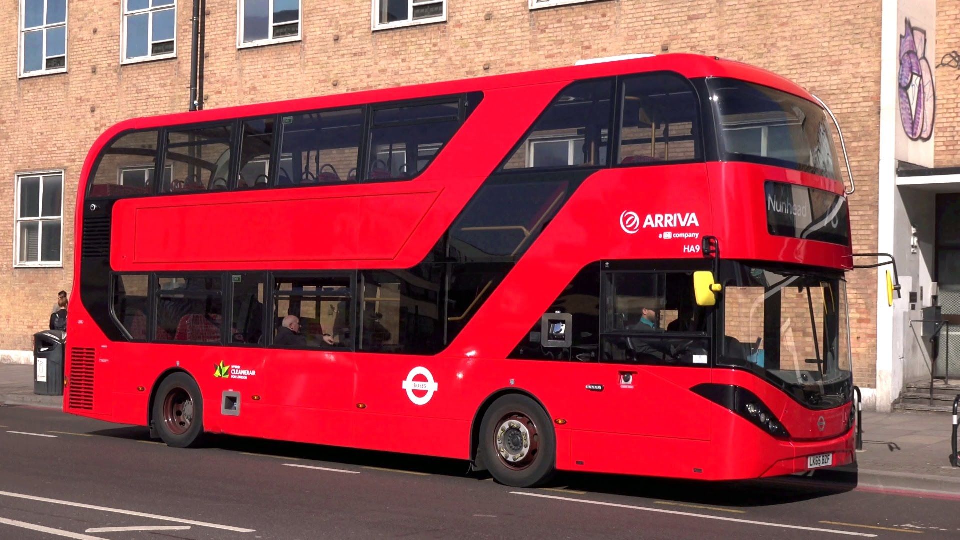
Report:
M 177 56 L 177 1 L 124 0 L 123 61 Z

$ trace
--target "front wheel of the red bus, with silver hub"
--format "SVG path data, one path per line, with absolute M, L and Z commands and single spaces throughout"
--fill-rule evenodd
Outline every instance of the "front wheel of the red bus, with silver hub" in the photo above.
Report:
M 480 425 L 483 462 L 496 481 L 534 487 L 553 478 L 557 438 L 537 402 L 511 394 L 493 402 Z

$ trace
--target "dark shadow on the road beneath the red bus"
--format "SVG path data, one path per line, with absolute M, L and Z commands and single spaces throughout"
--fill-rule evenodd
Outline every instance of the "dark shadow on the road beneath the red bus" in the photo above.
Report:
M 151 440 L 150 430 L 146 428 L 98 430 L 90 434 L 129 440 Z M 468 462 L 458 459 L 343 449 L 230 435 L 207 435 L 204 438 L 203 449 L 200 452 L 226 451 L 298 459 L 303 465 L 309 465 L 310 461 L 317 461 L 318 466 L 335 463 L 453 478 L 490 479 L 490 475 L 486 472 L 470 472 Z M 749 507 L 819 499 L 851 491 L 856 485 L 857 471 L 854 465 L 844 470 L 817 471 L 812 475 L 724 482 L 561 473 L 544 487 L 566 487 L 569 490 L 586 491 L 592 494 L 658 499 L 676 503 Z

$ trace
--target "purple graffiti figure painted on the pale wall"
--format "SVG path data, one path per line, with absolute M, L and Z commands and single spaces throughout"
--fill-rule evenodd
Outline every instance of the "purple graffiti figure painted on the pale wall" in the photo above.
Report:
M 900 36 L 900 119 L 910 140 L 927 141 L 936 117 L 933 70 L 926 60 L 926 31 L 907 18 Z

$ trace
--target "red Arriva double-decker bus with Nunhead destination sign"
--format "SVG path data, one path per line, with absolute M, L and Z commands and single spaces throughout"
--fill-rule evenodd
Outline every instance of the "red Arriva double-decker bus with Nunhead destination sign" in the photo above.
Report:
M 667 55 L 122 122 L 84 163 L 64 410 L 514 486 L 849 464 L 827 112 Z

